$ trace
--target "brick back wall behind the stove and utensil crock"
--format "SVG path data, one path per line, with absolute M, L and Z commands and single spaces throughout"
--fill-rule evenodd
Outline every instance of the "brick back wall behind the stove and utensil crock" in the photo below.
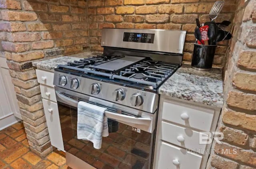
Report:
M 181 29 L 188 31 L 184 61 L 191 61 L 194 49 L 196 18 L 209 21 L 209 12 L 215 0 L 88 0 L 90 48 L 100 47 L 101 29 Z M 216 22 L 232 20 L 236 0 L 226 0 Z M 228 41 L 222 41 L 216 51 L 214 64 L 222 67 Z

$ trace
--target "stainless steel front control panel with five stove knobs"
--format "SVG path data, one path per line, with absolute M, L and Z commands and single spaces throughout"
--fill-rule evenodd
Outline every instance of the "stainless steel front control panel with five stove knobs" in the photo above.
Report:
M 158 94 L 153 92 L 57 71 L 54 73 L 54 85 L 150 113 L 156 111 L 159 98 Z

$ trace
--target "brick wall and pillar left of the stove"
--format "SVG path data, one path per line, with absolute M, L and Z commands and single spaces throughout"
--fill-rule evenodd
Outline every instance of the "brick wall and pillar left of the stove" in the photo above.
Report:
M 30 149 L 52 151 L 32 60 L 88 49 L 84 0 L 0 0 L 0 39 Z

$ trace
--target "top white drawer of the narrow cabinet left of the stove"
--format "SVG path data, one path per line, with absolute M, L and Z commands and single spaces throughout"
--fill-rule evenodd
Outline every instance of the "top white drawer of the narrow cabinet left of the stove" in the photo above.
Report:
M 54 87 L 53 85 L 54 73 L 36 69 L 36 77 L 37 77 L 38 83 Z

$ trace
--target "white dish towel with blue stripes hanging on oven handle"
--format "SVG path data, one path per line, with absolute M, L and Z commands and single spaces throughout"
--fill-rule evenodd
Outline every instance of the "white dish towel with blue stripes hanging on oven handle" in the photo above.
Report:
M 95 149 L 100 149 L 102 137 L 108 136 L 108 118 L 104 116 L 106 110 L 87 102 L 78 102 L 77 138 L 91 141 Z

